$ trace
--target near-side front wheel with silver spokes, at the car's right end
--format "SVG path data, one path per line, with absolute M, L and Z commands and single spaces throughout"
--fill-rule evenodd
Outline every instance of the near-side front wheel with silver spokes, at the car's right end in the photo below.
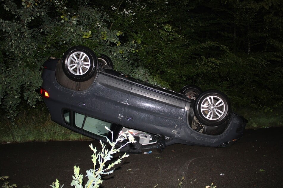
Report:
M 230 118 L 231 111 L 228 97 L 217 90 L 201 93 L 194 104 L 197 119 L 208 126 L 221 125 Z

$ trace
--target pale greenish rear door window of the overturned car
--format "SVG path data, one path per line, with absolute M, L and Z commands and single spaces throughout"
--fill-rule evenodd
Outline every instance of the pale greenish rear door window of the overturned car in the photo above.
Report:
M 109 133 L 109 131 L 105 129 L 105 126 L 109 129 L 111 127 L 111 123 L 109 122 L 88 117 L 77 112 L 75 113 L 75 125 L 77 128 L 102 137 L 107 137 Z

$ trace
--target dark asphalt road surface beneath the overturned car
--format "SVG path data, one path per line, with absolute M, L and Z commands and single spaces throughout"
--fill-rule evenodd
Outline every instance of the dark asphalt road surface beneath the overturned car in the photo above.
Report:
M 0 145 L 0 176 L 18 187 L 45 188 L 59 179 L 71 187 L 73 167 L 93 168 L 89 144 L 98 141 L 56 141 Z M 163 152 L 130 154 L 101 187 L 282 187 L 283 128 L 246 130 L 226 148 L 175 144 Z M 85 181 L 87 178 L 84 177 Z M 2 182 L 0 182 L 1 185 Z

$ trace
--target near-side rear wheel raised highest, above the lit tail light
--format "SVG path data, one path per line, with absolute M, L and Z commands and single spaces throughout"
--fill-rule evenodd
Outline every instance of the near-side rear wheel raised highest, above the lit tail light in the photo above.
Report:
M 65 52 L 62 68 L 69 79 L 83 82 L 93 77 L 97 69 L 97 57 L 88 47 L 74 46 Z

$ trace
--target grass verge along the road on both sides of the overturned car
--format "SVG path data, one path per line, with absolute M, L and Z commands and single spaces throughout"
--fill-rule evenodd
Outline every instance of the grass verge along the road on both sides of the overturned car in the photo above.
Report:
M 4 117 L 0 119 L 0 143 L 30 142 L 30 141 L 67 141 L 91 140 L 86 136 L 75 133 L 51 120 L 45 105 L 36 108 L 22 107 L 15 122 Z M 256 109 L 237 109 L 249 122 L 246 129 L 268 128 L 283 126 L 283 109 L 260 111 Z

